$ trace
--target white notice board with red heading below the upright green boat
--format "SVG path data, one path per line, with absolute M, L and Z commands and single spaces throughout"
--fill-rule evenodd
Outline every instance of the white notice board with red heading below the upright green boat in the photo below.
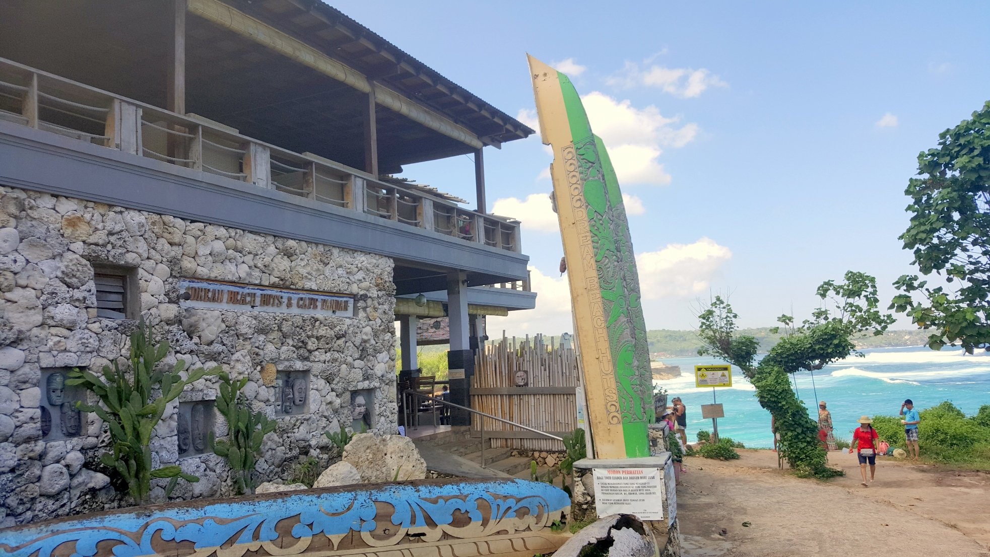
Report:
M 641 520 L 663 519 L 663 477 L 659 468 L 595 468 L 598 517 L 634 514 Z

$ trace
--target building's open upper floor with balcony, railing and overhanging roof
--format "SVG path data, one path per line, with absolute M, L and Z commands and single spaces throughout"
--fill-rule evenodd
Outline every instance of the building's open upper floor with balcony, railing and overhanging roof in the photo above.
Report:
M 380 253 L 400 296 L 526 279 L 483 147 L 533 133 L 323 2 L 0 3 L 0 183 Z M 461 154 L 470 209 L 392 178 Z

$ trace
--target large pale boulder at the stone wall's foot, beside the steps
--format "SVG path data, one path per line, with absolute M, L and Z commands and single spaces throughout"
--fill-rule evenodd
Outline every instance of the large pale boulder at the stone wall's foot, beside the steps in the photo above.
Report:
M 358 433 L 344 447 L 344 460 L 357 469 L 364 483 L 422 480 L 427 463 L 413 440 L 402 435 Z

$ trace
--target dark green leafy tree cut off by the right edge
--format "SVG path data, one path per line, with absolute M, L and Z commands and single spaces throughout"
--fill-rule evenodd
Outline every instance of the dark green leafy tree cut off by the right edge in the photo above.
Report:
M 932 329 L 931 348 L 990 350 L 990 101 L 939 134 L 938 148 L 918 155 L 918 174 L 904 192 L 912 216 L 900 239 L 914 250 L 922 275 L 934 273 L 947 285 L 930 288 L 918 275 L 904 275 L 894 283 L 902 294 L 890 309 Z

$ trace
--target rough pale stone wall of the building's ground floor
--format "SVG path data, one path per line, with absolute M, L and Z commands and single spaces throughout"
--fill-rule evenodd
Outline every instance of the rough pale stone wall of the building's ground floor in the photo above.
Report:
M 141 316 L 171 345 L 165 363 L 219 364 L 247 377 L 247 400 L 271 418 L 275 388 L 270 377 L 262 380 L 262 370 L 270 376 L 273 364 L 278 372 L 308 377 L 307 412 L 277 418 L 277 429 L 265 438 L 256 467 L 261 481 L 287 483 L 303 458 L 328 464 L 331 443 L 324 431 L 350 425 L 350 391 L 373 393 L 375 430 L 395 432 L 390 258 L 3 187 L 0 526 L 123 503 L 117 495 L 123 486 L 111 485 L 113 474 L 99 464 L 109 442 L 99 418 L 84 415 L 77 436 L 50 440 L 42 432 L 43 414 L 49 429 L 51 423 L 42 410 L 43 373 L 73 366 L 98 370 L 129 354 L 126 335 L 136 322 L 96 316 L 94 265 L 105 264 L 136 275 Z M 180 278 L 352 295 L 354 317 L 183 309 Z M 195 484 L 180 481 L 173 499 L 233 492 L 222 458 L 209 450 L 178 456 L 180 404 L 216 399 L 218 382 L 207 377 L 191 385 L 154 430 L 153 464 L 178 463 L 200 477 Z M 223 418 L 215 414 L 212 421 L 218 437 L 225 435 Z M 158 486 L 152 497 L 163 496 Z

